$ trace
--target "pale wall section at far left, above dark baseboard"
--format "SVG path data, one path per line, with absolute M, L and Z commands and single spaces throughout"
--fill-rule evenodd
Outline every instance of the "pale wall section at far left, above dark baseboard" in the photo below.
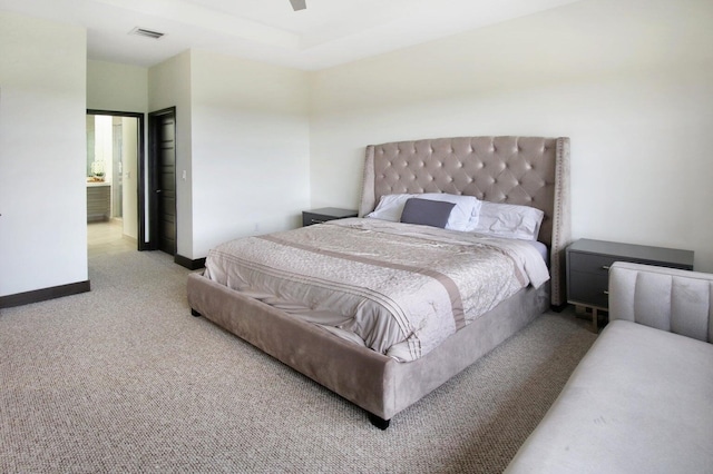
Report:
M 0 296 L 88 279 L 86 85 L 84 29 L 0 11 Z

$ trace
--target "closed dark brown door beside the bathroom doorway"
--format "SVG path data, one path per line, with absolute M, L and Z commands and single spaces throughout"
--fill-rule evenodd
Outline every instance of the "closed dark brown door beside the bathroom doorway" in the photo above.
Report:
M 158 250 L 176 255 L 176 110 L 153 112 L 149 122 L 155 210 L 150 240 Z

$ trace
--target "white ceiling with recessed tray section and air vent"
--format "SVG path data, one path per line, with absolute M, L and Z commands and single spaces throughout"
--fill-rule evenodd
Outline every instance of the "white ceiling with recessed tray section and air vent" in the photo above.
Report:
M 0 0 L 87 29 L 89 59 L 149 67 L 189 48 L 305 70 L 522 17 L 577 0 Z M 131 36 L 136 27 L 165 33 Z

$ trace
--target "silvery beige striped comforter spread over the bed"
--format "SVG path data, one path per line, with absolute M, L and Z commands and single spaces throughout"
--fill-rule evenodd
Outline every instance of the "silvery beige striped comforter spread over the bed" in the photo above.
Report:
M 205 276 L 399 361 L 549 279 L 525 240 L 360 218 L 223 244 Z

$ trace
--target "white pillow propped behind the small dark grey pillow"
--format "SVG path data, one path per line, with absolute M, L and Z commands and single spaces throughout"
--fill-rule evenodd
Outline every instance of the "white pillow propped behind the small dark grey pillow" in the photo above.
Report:
M 471 230 L 473 225 L 478 223 L 481 201 L 472 196 L 457 196 L 446 192 L 384 195 L 379 200 L 379 205 L 373 213 L 368 214 L 367 217 L 398 223 L 401 220 L 406 201 L 413 197 L 455 204 L 456 206 L 446 224 L 447 229 L 467 231 Z

